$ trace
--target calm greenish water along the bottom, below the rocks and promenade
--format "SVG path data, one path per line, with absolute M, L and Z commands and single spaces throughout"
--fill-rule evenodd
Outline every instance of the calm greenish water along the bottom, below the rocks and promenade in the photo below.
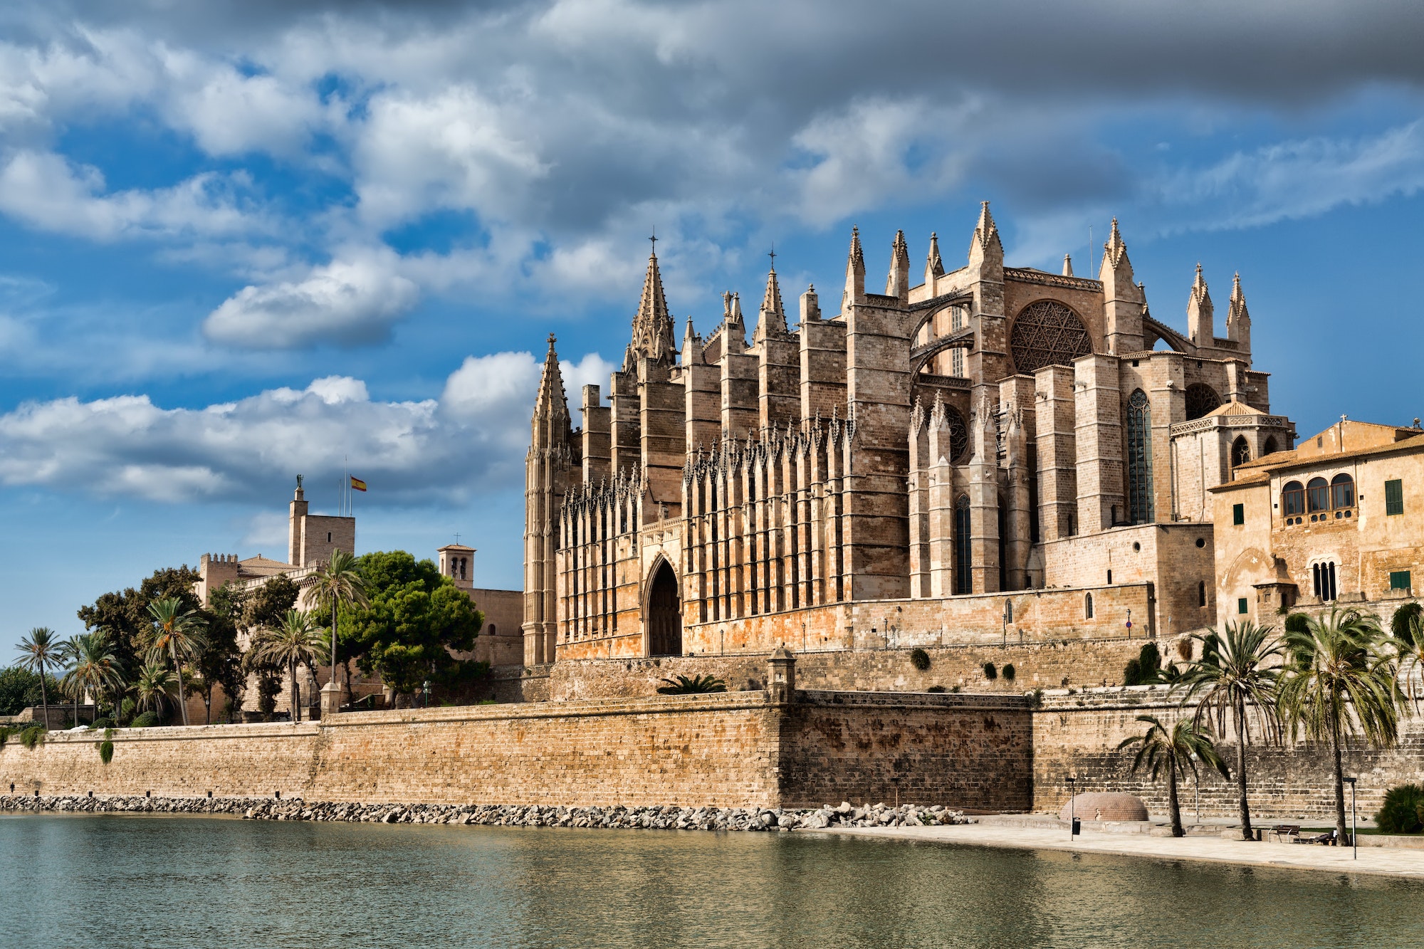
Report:
M 0 818 L 0 945 L 1413 946 L 1424 885 L 839 836 Z

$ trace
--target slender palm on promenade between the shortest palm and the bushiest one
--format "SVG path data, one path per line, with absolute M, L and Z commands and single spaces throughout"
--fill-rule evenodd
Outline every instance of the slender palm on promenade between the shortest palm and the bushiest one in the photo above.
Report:
M 1202 657 L 1189 663 L 1182 673 L 1186 688 L 1183 704 L 1196 701 L 1196 725 L 1215 717 L 1216 734 L 1223 734 L 1227 712 L 1236 727 L 1236 789 L 1240 795 L 1242 839 L 1253 839 L 1250 802 L 1246 798 L 1246 742 L 1250 741 L 1252 720 L 1269 741 L 1280 738 L 1280 718 L 1276 715 L 1276 688 L 1280 670 L 1272 667 L 1282 655 L 1283 645 L 1272 627 L 1255 623 L 1227 623 L 1225 631 L 1192 636 L 1202 644 Z

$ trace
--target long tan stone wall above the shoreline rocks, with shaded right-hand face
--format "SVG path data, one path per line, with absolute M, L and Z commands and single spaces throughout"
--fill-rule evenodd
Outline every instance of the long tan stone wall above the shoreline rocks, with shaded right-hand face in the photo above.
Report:
M 980 741 L 980 735 L 987 735 Z M 763 807 L 1027 807 L 1027 704 L 766 691 L 352 712 L 330 722 L 57 732 L 0 748 L 21 795 Z

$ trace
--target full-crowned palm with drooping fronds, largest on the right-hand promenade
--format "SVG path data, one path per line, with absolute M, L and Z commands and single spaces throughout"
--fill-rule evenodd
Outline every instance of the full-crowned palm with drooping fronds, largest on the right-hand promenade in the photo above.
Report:
M 1344 767 L 1340 750 L 1351 738 L 1386 748 L 1400 737 L 1400 694 L 1380 620 L 1354 610 L 1310 617 L 1304 631 L 1287 631 L 1290 665 L 1280 708 L 1290 737 L 1329 741 L 1334 757 L 1336 839 L 1346 841 Z

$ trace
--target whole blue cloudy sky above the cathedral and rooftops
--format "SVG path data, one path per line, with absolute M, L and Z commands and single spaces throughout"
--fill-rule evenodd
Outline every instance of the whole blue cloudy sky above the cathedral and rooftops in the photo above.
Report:
M 121 11 L 120 11 L 121 7 Z M 993 9 L 990 9 L 993 7 Z M 285 554 L 343 459 L 362 550 L 460 531 L 520 583 L 544 338 L 607 385 L 668 299 L 834 309 L 904 228 L 1079 274 L 1118 217 L 1152 312 L 1240 271 L 1302 435 L 1408 423 L 1415 3 L 11 3 L 0 13 L 0 648 L 204 551 Z M 1092 241 L 1089 242 L 1089 232 Z M 918 266 L 918 265 L 917 265 Z

